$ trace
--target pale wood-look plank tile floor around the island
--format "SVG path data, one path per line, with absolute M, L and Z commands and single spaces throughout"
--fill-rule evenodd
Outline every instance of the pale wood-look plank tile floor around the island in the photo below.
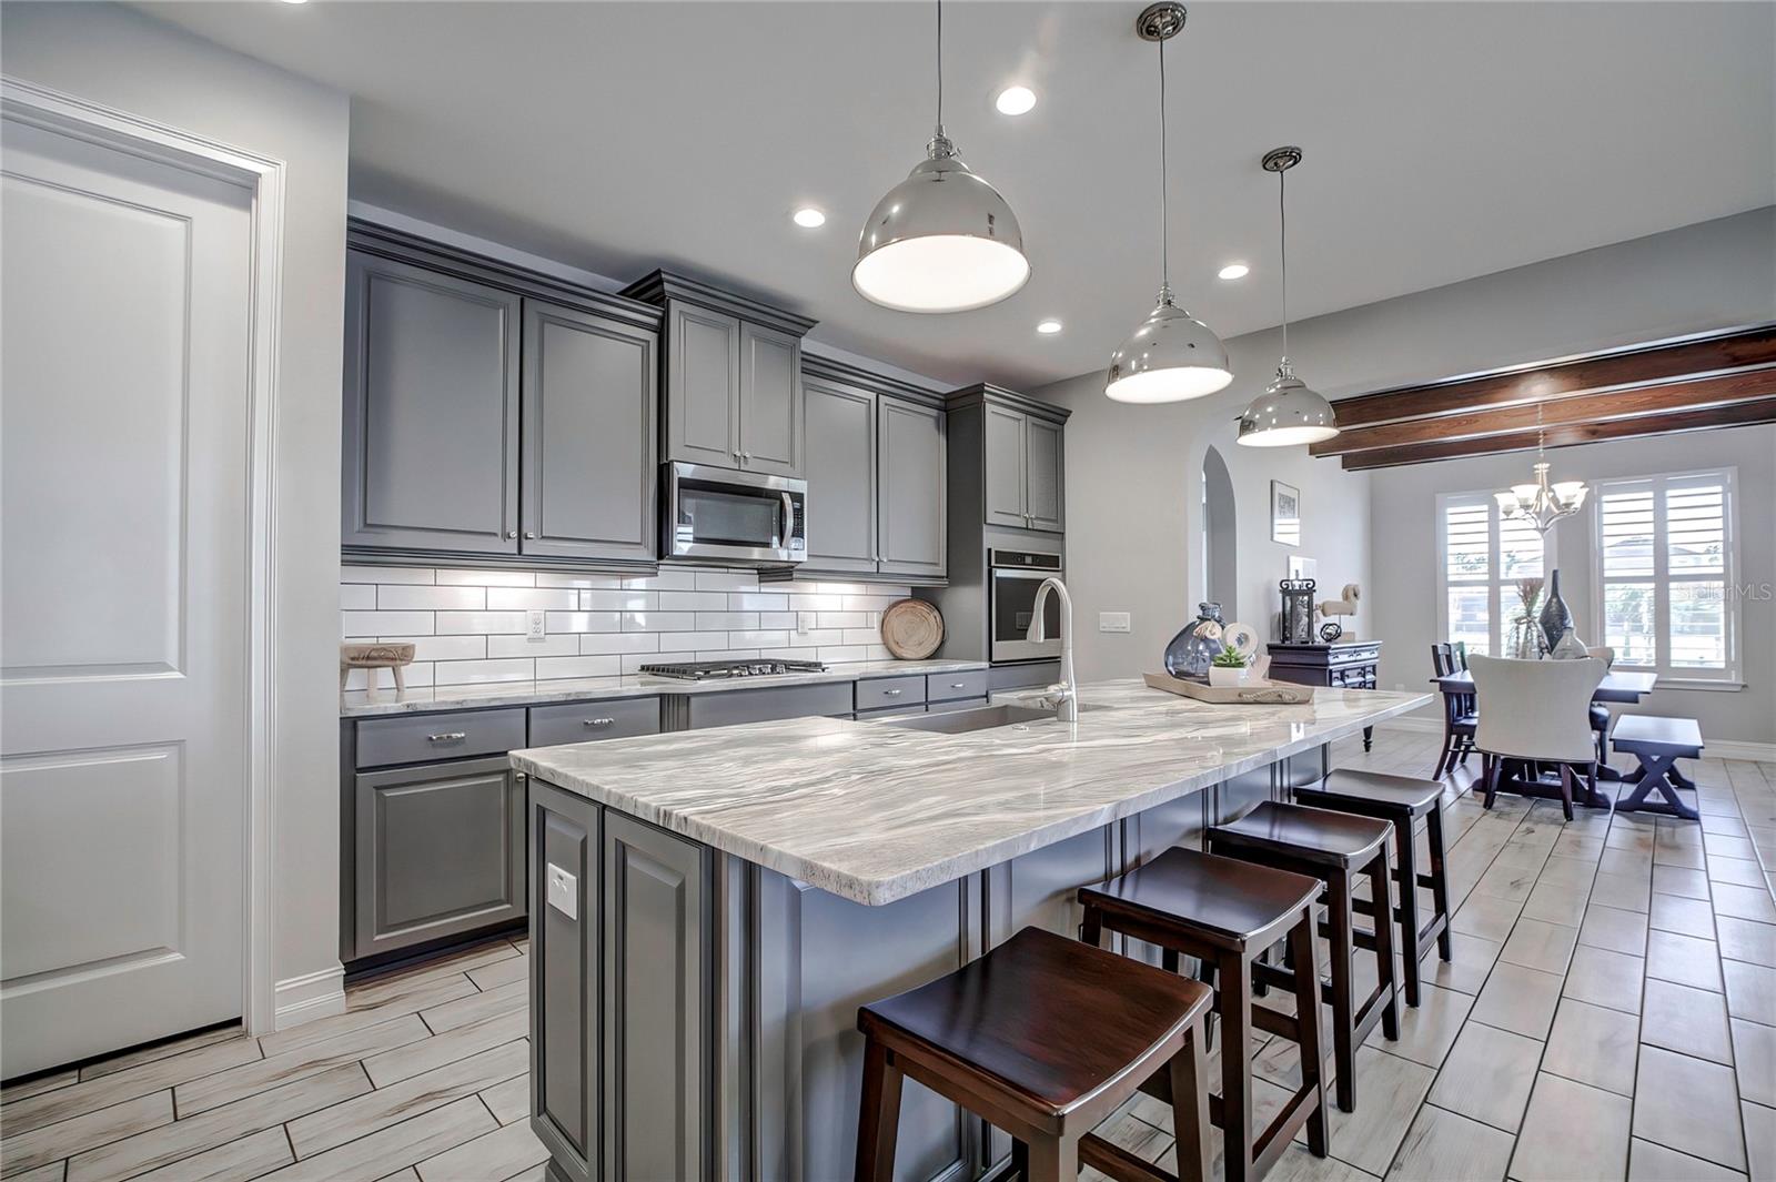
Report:
M 1373 753 L 1341 744 L 1334 765 L 1424 776 L 1435 751 L 1378 731 Z M 1293 1145 L 1272 1178 L 1776 1182 L 1776 765 L 1700 761 L 1700 823 L 1581 809 L 1568 825 L 1510 795 L 1487 813 L 1467 795 L 1474 770 L 1447 781 L 1455 960 L 1431 950 L 1399 1042 L 1376 1031 L 1360 1051 L 1332 1157 Z M 542 1178 L 526 973 L 524 941 L 497 941 L 353 985 L 339 1017 L 11 1084 L 0 1175 Z M 1298 1058 L 1286 1040 L 1250 1052 L 1268 1118 Z M 1156 1104 L 1105 1132 L 1172 1164 Z

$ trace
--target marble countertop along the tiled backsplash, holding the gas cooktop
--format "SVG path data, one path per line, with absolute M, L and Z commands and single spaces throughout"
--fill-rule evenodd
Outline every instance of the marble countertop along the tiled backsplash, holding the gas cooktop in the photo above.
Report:
M 368 719 L 382 713 L 426 713 L 432 710 L 474 710 L 481 706 L 542 706 L 552 701 L 588 697 L 646 697 L 650 694 L 723 694 L 739 689 L 774 685 L 817 685 L 821 682 L 858 682 L 913 673 L 968 673 L 986 669 L 984 660 L 852 660 L 828 666 L 826 673 L 785 673 L 769 678 L 559 678 L 554 682 L 492 682 L 487 685 L 435 685 L 408 690 L 346 690 L 339 694 L 341 719 Z

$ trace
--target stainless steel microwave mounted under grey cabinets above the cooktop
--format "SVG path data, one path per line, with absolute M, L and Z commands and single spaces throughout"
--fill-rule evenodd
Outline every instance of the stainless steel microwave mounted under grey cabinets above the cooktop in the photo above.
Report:
M 707 463 L 666 465 L 661 556 L 781 566 L 808 557 L 808 481 Z

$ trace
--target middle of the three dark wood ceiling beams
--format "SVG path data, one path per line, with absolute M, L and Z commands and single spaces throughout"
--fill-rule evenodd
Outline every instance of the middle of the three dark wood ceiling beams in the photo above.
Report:
M 1742 369 L 1707 378 L 1684 378 L 1625 390 L 1579 394 L 1540 405 L 1540 424 L 1558 426 L 1641 419 L 1682 410 L 1709 410 L 1776 396 L 1776 366 Z M 1376 426 L 1344 428 L 1337 437 L 1314 444 L 1316 456 L 1344 456 L 1360 451 L 1410 447 L 1428 442 L 1469 442 L 1471 454 L 1499 451 L 1495 437 L 1534 431 L 1538 405 L 1497 406 L 1433 419 L 1408 419 Z M 1343 414 L 1339 415 L 1343 422 Z

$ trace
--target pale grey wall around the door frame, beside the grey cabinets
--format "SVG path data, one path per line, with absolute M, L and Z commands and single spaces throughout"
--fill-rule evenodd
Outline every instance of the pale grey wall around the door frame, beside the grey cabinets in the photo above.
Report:
M 110 4 L 7 4 L 7 76 L 288 165 L 275 506 L 274 974 L 337 989 L 345 94 Z M 318 978 L 314 974 L 320 974 Z

